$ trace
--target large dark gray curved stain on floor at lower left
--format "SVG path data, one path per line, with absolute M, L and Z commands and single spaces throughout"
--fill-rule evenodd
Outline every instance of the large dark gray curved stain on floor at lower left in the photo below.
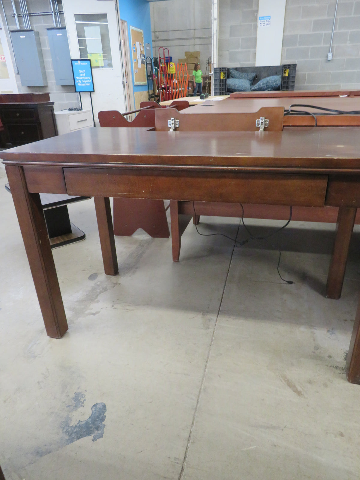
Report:
M 105 412 L 106 405 L 105 403 L 100 402 L 91 407 L 91 415 L 88 419 L 79 420 L 76 425 L 70 425 L 70 417 L 64 420 L 61 424 L 61 429 L 67 437 L 65 443 L 69 445 L 81 438 L 91 437 L 91 435 L 93 435 L 93 442 L 102 438 L 105 428 Z

